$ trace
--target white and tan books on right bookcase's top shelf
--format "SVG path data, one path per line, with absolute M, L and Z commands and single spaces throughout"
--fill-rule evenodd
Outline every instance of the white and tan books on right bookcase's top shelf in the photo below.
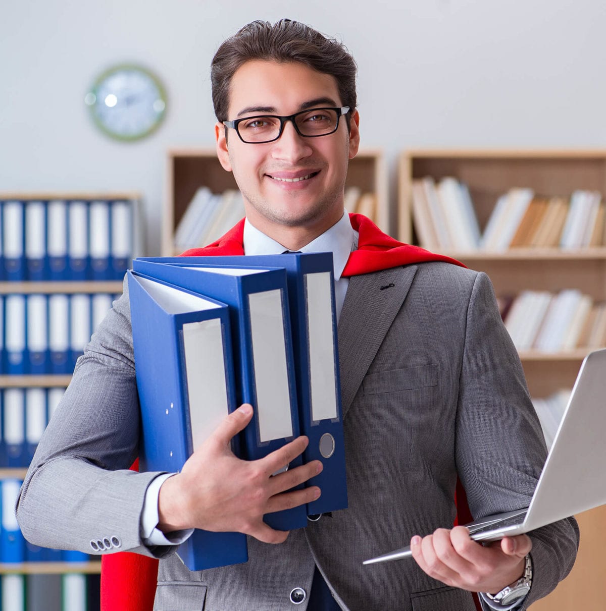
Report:
M 605 203 L 598 191 L 544 197 L 530 188 L 498 198 L 480 231 L 470 191 L 456 178 L 413 180 L 412 211 L 421 246 L 504 252 L 515 248 L 583 249 L 606 245 Z

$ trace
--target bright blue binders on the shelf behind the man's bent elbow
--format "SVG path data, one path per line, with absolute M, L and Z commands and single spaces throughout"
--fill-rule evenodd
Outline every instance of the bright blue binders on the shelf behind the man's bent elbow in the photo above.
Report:
M 64 549 L 48 549 L 26 541 L 17 524 L 15 503 L 19 489 L 23 484 L 17 478 L 0 480 L 0 562 L 15 564 L 23 562 L 89 562 L 90 557 L 84 552 Z

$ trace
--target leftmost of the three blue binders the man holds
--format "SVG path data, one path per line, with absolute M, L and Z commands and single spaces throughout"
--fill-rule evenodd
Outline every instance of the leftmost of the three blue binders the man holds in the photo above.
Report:
M 168 282 L 127 274 L 141 403 L 140 468 L 177 472 L 237 407 L 229 312 L 225 304 Z M 191 571 L 248 560 L 242 533 L 196 529 L 177 553 Z

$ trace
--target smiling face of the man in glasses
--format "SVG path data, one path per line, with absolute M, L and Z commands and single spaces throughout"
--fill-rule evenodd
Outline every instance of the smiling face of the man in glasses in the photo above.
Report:
M 251 60 L 232 78 L 228 119 L 291 115 L 310 102 L 311 108 L 342 106 L 333 76 L 303 64 Z M 355 112 L 348 133 L 341 117 L 336 132 L 311 138 L 299 136 L 287 122 L 279 139 L 265 144 L 246 144 L 232 129 L 226 140 L 224 126 L 217 123 L 217 153 L 223 167 L 234 172 L 249 221 L 276 239 L 289 227 L 319 235 L 337 222 L 347 164 L 358 152 L 358 121 Z M 288 180 L 301 177 L 306 178 Z

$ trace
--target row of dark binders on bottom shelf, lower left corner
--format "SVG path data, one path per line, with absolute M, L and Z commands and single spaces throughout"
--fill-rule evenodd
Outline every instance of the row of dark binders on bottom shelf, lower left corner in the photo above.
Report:
M 80 573 L 0 576 L 2 611 L 99 611 L 100 576 Z

